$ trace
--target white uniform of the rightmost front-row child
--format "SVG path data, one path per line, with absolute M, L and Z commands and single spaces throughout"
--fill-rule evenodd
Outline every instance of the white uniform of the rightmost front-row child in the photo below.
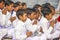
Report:
M 39 24 L 43 29 L 44 35 L 46 35 L 46 37 L 50 39 L 50 33 L 52 32 L 53 28 L 49 26 L 49 21 L 42 16 Z

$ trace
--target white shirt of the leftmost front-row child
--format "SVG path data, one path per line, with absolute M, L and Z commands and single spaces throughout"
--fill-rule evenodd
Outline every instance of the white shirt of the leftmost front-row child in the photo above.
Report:
M 24 22 L 21 20 L 18 20 L 17 25 L 15 26 L 15 37 L 17 40 L 25 40 L 27 35 L 26 35 L 26 28 L 24 25 Z

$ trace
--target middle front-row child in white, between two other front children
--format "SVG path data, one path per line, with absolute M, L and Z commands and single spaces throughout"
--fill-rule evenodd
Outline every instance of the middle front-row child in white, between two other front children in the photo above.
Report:
M 33 35 L 31 37 L 27 38 L 27 40 L 45 40 L 45 38 L 42 38 L 44 36 L 37 36 L 36 31 L 38 30 L 37 20 L 36 18 L 36 10 L 28 8 L 27 9 L 27 15 L 28 18 L 25 22 L 26 29 L 30 32 L 32 32 Z

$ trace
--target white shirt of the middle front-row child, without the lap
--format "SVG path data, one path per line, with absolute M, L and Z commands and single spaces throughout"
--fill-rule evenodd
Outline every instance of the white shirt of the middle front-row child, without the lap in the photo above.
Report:
M 33 25 L 33 21 L 34 20 L 30 20 L 29 18 L 27 18 L 25 25 L 28 31 L 31 31 L 32 33 L 34 33 L 37 30 L 37 25 Z

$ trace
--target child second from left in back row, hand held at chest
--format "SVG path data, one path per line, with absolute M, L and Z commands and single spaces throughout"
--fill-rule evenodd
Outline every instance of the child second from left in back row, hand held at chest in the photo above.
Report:
M 12 26 L 12 22 L 14 21 L 11 16 L 11 12 L 13 10 L 13 5 L 14 3 L 12 1 L 6 1 L 5 2 L 5 8 L 3 10 L 3 15 L 4 15 L 4 28 L 7 28 L 9 29 L 8 31 L 8 37 L 11 37 L 12 36 L 12 32 L 13 32 L 13 26 Z

